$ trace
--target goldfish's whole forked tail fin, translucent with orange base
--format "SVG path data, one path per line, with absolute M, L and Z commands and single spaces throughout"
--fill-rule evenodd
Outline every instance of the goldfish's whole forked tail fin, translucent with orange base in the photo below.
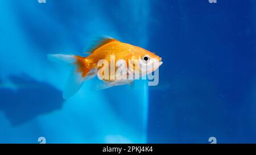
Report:
M 72 97 L 82 86 L 86 75 L 90 72 L 89 65 L 86 63 L 85 58 L 75 55 L 62 55 L 62 54 L 49 54 L 48 59 L 53 62 L 64 62 L 65 64 L 72 65 L 71 73 L 65 84 L 63 98 L 68 99 Z M 94 76 L 90 73 L 89 76 Z

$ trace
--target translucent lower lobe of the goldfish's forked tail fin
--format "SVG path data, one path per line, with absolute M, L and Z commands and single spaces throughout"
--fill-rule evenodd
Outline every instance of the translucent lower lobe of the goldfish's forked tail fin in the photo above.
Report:
M 64 87 L 63 98 L 68 99 L 76 94 L 76 92 L 82 86 L 84 79 L 85 78 L 82 77 L 81 73 L 77 73 L 75 68 L 72 69 Z

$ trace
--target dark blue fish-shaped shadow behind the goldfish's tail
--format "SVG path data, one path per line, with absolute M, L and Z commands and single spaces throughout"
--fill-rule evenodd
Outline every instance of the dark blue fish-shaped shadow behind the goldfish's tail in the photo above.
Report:
M 14 126 L 60 109 L 64 102 L 61 91 L 46 82 L 35 81 L 24 74 L 9 79 L 14 88 L 3 84 L 0 87 L 0 111 Z

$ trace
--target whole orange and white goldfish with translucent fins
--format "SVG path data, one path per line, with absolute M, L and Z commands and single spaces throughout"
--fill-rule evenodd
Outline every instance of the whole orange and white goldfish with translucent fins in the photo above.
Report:
M 64 99 L 72 97 L 84 81 L 96 76 L 103 82 L 98 88 L 106 89 L 130 84 L 134 79 L 154 72 L 163 64 L 162 58 L 155 53 L 112 37 L 102 37 L 86 53 L 90 55 L 47 55 L 50 61 L 72 66 L 64 87 Z

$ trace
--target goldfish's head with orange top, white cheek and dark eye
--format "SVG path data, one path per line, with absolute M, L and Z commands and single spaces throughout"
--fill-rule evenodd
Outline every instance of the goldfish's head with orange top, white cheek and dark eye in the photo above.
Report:
M 141 47 L 134 47 L 132 52 L 133 57 L 131 60 L 133 60 L 133 63 L 138 63 L 137 66 L 135 65 L 134 70 L 132 70 L 133 73 L 136 73 L 139 70 L 140 74 L 148 74 L 154 72 L 163 64 L 161 57 Z

